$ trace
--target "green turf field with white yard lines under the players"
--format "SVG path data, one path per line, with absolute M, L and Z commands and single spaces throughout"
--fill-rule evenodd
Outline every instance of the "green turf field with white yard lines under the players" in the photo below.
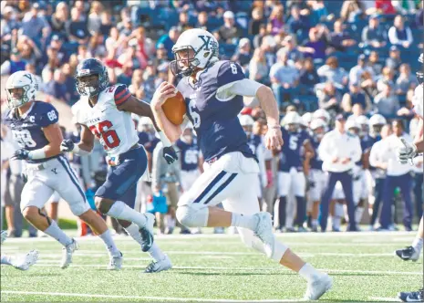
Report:
M 396 301 L 398 291 L 423 285 L 422 256 L 404 262 L 393 251 L 408 246 L 415 233 L 283 234 L 281 241 L 306 261 L 328 272 L 334 287 L 322 300 Z M 160 247 L 173 269 L 146 275 L 147 254 L 129 238 L 116 237 L 124 254 L 119 272 L 105 268 L 108 256 L 93 237 L 80 239 L 74 263 L 58 267 L 61 247 L 53 240 L 7 239 L 3 254 L 38 249 L 38 264 L 28 271 L 1 267 L 1 301 L 295 301 L 305 281 L 266 257 L 245 248 L 237 235 L 162 235 Z

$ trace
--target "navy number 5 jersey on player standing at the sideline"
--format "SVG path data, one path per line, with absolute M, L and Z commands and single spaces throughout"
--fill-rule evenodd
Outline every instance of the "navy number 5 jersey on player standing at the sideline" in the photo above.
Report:
M 281 128 L 283 132 L 284 145 L 280 153 L 280 172 L 289 172 L 292 167 L 297 171 L 303 170 L 303 156 L 302 148 L 305 141 L 309 140 L 309 135 L 306 131 L 286 131 L 284 127 Z

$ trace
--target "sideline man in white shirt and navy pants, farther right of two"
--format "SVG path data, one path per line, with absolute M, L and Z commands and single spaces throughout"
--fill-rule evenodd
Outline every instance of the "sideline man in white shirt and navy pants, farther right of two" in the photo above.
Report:
M 384 153 L 382 155 L 383 162 L 387 163 L 386 183 L 383 192 L 383 208 L 380 215 L 379 230 L 387 230 L 392 225 L 391 205 L 395 188 L 400 188 L 404 204 L 403 225 L 407 231 L 412 230 L 412 176 L 410 174 L 412 166 L 408 163 L 400 163 L 397 159 L 397 150 L 402 145 L 400 139 L 412 142 L 412 138 L 408 133 L 404 132 L 402 120 L 395 120 L 392 123 L 393 134 L 385 140 L 382 147 Z

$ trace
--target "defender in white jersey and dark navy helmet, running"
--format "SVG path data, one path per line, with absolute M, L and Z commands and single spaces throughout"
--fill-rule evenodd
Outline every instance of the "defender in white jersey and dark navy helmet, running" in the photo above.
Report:
M 137 183 L 146 172 L 148 160 L 131 119 L 131 113 L 150 117 L 149 104 L 133 97 L 125 85 L 109 85 L 106 67 L 97 59 L 82 61 L 77 68 L 77 89 L 81 99 L 72 107 L 78 124 L 82 125 L 81 141 L 62 142 L 62 151 L 88 154 L 98 138 L 108 153 L 109 172 L 106 182 L 96 192 L 96 206 L 102 214 L 116 218 L 141 250 L 149 252 L 153 262 L 145 272 L 171 268 L 171 260 L 153 243 L 153 214 L 134 210 Z M 156 127 L 157 130 L 159 130 Z M 161 136 L 163 156 L 168 163 L 178 159 L 171 142 Z

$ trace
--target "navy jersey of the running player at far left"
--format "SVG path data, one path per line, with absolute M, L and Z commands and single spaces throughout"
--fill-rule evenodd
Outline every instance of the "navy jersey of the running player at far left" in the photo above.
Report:
M 6 110 L 3 123 L 12 131 L 19 147 L 27 151 L 35 151 L 45 147 L 49 142 L 43 128 L 57 123 L 59 113 L 50 103 L 35 101 L 22 117 L 17 117 L 16 110 Z M 27 160 L 29 163 L 46 162 L 50 157 L 38 160 Z

